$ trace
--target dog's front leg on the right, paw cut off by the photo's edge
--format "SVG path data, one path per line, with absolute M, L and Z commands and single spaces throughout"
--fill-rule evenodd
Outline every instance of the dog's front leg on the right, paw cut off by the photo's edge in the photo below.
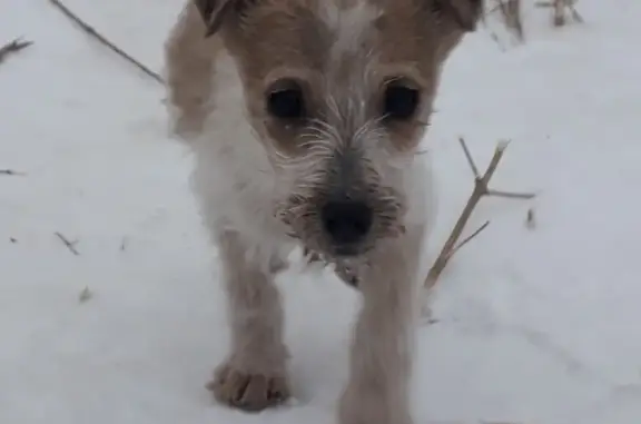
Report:
M 423 233 L 408 230 L 362 270 L 363 306 L 354 329 L 339 424 L 411 424 L 417 267 Z

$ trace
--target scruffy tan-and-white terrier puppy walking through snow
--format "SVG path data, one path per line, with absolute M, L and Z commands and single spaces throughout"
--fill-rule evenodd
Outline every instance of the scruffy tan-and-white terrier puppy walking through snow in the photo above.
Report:
M 290 395 L 274 284 L 296 247 L 356 285 L 339 424 L 410 424 L 430 174 L 418 145 L 482 0 L 190 0 L 166 45 L 174 132 L 219 248 L 230 353 L 209 388 Z

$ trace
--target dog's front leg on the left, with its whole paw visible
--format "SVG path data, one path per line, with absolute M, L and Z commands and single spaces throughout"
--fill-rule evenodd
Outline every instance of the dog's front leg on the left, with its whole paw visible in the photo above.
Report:
M 276 406 L 289 397 L 284 314 L 274 284 L 278 258 L 264 260 L 265 255 L 248 254 L 248 246 L 235 231 L 218 238 L 231 349 L 208 387 L 218 402 L 240 410 Z

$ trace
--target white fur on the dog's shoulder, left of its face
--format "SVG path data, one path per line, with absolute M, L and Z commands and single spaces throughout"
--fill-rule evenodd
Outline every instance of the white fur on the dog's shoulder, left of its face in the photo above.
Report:
M 234 59 L 221 52 L 215 73 L 216 112 L 190 142 L 195 152 L 193 188 L 209 228 L 236 229 L 265 264 L 274 249 L 294 248 L 274 213 L 276 175 L 247 118 Z

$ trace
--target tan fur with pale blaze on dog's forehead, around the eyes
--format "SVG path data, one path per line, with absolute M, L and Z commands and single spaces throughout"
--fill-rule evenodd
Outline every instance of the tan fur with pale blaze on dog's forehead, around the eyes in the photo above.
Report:
M 369 103 L 365 118 L 376 119 L 381 87 L 403 76 L 422 89 L 422 112 L 388 131 L 400 149 L 415 147 L 428 121 L 441 62 L 463 33 L 425 3 L 265 0 L 248 6 L 236 24 L 224 29 L 224 39 L 240 63 L 248 110 L 262 139 L 287 154 L 300 145 L 299 130 L 265 112 L 265 91 L 279 78 L 302 82 L 314 118 L 328 114 L 328 95 L 339 99 L 349 92 Z

